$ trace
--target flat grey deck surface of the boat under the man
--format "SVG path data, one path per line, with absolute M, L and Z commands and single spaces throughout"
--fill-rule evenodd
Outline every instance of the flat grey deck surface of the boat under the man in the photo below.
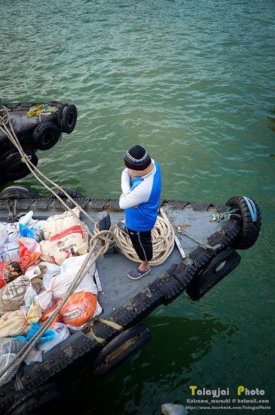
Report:
M 193 210 L 191 205 L 185 206 L 185 208 L 172 208 L 169 204 L 162 206 L 167 218 L 175 230 L 176 237 L 182 246 L 184 253 L 187 255 L 184 262 L 188 264 L 190 262 L 189 254 L 198 247 L 198 243 L 176 232 L 178 225 L 181 225 L 188 234 L 193 238 L 207 243 L 207 238 L 213 234 L 218 226 L 218 222 L 210 222 L 212 218 L 211 214 L 215 212 L 214 208 L 208 208 L 208 210 Z M 108 211 L 108 210 L 107 210 Z M 124 212 L 108 211 L 113 226 L 118 221 L 124 219 Z M 37 211 L 34 212 L 34 219 L 46 219 L 53 214 L 60 214 L 57 211 Z M 88 212 L 89 216 L 96 219 L 97 211 Z M 1 218 L 1 216 L 0 216 Z M 80 218 L 93 232 L 94 225 L 92 221 L 89 221 L 84 214 L 81 214 Z M 3 220 L 3 219 L 1 219 Z M 166 270 L 173 264 L 178 264 L 182 261 L 182 256 L 177 246 L 173 248 L 169 258 L 164 263 L 153 266 L 150 274 L 142 277 L 137 281 L 133 281 L 127 277 L 127 273 L 138 266 L 138 263 L 134 263 L 130 259 L 122 255 L 117 248 L 115 248 L 115 254 L 107 254 L 97 259 L 97 271 L 99 279 L 102 285 L 102 291 L 99 293 L 99 304 L 103 308 L 102 317 L 108 318 L 115 309 L 120 306 L 131 306 L 131 299 L 140 292 L 146 291 L 149 284 L 153 283 L 156 278 L 163 278 Z

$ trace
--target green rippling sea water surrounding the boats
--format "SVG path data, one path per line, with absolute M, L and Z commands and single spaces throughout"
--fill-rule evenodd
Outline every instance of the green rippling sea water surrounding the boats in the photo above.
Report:
M 108 378 L 94 382 L 87 365 L 61 377 L 79 413 L 158 415 L 171 402 L 275 414 L 274 0 L 0 0 L 0 28 L 3 102 L 77 106 L 75 131 L 37 152 L 44 174 L 117 198 L 124 153 L 140 144 L 160 164 L 163 199 L 249 196 L 263 216 L 240 266 L 199 302 L 183 294 L 154 311 L 151 342 Z M 35 178 L 20 183 L 48 196 Z M 272 409 L 195 409 L 193 385 Z M 265 395 L 237 396 L 240 385 Z

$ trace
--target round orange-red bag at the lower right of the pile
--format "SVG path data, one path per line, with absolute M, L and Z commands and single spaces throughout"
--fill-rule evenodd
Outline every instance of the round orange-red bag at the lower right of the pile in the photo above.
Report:
M 61 300 L 57 302 L 57 306 Z M 59 311 L 65 323 L 82 326 L 92 317 L 97 307 L 97 296 L 91 293 L 74 293 Z

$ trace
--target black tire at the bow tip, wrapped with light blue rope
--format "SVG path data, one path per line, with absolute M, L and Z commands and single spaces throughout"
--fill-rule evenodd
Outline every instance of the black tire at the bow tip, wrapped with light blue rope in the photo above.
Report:
M 238 237 L 238 239 L 232 244 L 232 247 L 235 249 L 243 250 L 251 248 L 254 246 L 254 243 L 256 243 L 260 234 L 262 219 L 260 216 L 260 208 L 254 199 L 251 200 L 254 202 L 256 207 L 256 222 L 252 221 L 247 202 L 243 196 L 233 196 L 226 203 L 226 205 L 231 208 L 238 208 L 243 218 L 243 228 L 240 232 L 240 237 Z

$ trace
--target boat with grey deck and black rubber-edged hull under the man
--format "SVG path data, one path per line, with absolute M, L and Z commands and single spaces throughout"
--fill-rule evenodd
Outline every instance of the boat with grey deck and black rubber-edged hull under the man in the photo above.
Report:
M 124 219 L 124 212 L 120 210 L 117 199 L 86 199 L 80 196 L 75 200 L 93 219 L 96 219 L 98 212 L 102 211 L 110 214 L 114 225 L 117 221 Z M 72 204 L 66 198 L 65 201 L 68 205 Z M 15 205 L 16 214 L 32 210 L 35 219 L 46 219 L 64 210 L 57 199 L 12 200 L 7 198 L 1 200 L 0 194 L 1 221 L 7 221 L 8 211 L 14 212 Z M 133 262 L 117 249 L 97 259 L 97 270 L 102 284 L 102 292 L 98 296 L 103 308 L 103 314 L 100 317 L 119 324 L 124 331 L 127 331 L 142 322 L 155 308 L 170 304 L 184 291 L 194 300 L 205 295 L 221 279 L 229 275 L 240 262 L 240 255 L 234 247 L 238 246 L 238 239 L 243 232 L 241 215 L 232 216 L 220 225 L 217 221 L 213 221 L 214 213 L 219 212 L 222 215 L 231 208 L 227 204 L 161 200 L 160 213 L 162 212 L 173 225 L 180 246 L 175 245 L 171 255 L 163 264 L 154 266 L 149 275 L 134 282 L 126 277 L 126 273 L 133 268 Z M 258 205 L 256 205 L 256 213 L 256 226 L 260 232 Z M 93 223 L 84 215 L 81 219 L 93 231 Z M 179 226 L 193 239 L 187 237 L 186 234 L 177 233 Z M 198 240 L 202 243 L 199 244 Z M 203 245 L 209 248 L 203 248 Z M 180 247 L 184 254 L 179 249 Z M 93 333 L 97 338 L 106 340 L 107 344 L 117 338 L 117 343 L 121 347 L 118 338 L 120 331 L 113 326 L 98 320 L 94 323 Z M 146 344 L 146 341 L 137 342 L 137 349 L 134 351 L 138 351 L 139 344 Z M 89 326 L 73 333 L 64 342 L 46 352 L 43 362 L 21 367 L 18 376 L 24 393 L 53 381 L 55 374 L 73 368 L 77 362 L 83 360 L 92 365 L 93 373 L 97 377 L 106 376 L 113 368 L 110 367 L 108 370 L 107 360 L 99 358 L 102 350 L 104 351 L 104 347 L 93 338 Z M 131 349 L 129 356 L 133 354 L 132 352 Z M 121 362 L 124 361 L 123 356 Z M 95 367 L 97 360 L 102 365 L 102 359 L 104 360 L 103 375 L 100 367 Z M 119 364 L 120 358 L 115 367 Z M 1 387 L 0 407 L 2 411 L 15 404 L 16 388 L 18 388 L 18 382 L 15 379 Z

